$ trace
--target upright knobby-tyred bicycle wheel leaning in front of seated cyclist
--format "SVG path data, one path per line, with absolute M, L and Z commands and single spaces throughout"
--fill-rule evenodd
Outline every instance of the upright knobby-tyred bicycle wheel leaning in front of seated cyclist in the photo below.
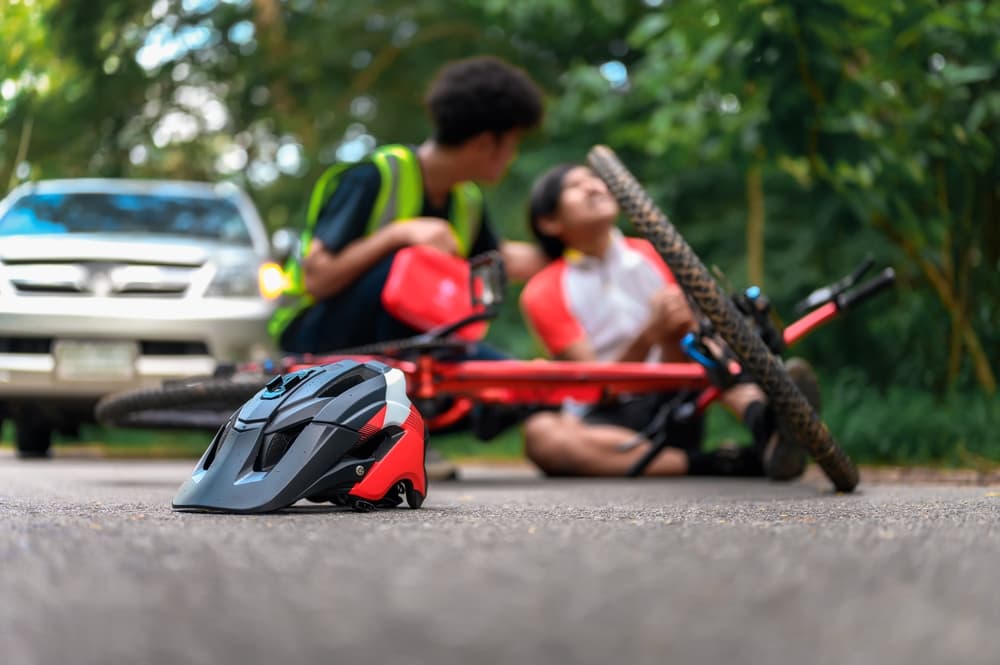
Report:
M 636 228 L 656 247 L 681 288 L 711 320 L 744 369 L 767 394 L 778 418 L 806 444 L 834 487 L 842 492 L 852 491 L 858 484 L 857 467 L 666 215 L 610 148 L 595 146 L 587 161 L 607 183 Z

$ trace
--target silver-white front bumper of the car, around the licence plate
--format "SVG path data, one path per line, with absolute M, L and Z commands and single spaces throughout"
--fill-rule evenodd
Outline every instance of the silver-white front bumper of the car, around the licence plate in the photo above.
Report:
M 209 374 L 219 362 L 262 359 L 273 351 L 267 337 L 272 311 L 257 298 L 0 299 L 0 340 L 27 340 L 31 347 L 0 347 L 0 400 L 96 399 Z M 88 344 L 132 349 L 128 367 L 93 375 L 66 371 L 60 349 L 72 345 L 79 354 Z

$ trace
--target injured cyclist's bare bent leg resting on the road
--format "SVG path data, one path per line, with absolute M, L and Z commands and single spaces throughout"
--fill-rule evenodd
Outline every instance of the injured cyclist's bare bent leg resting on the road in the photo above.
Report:
M 623 476 L 642 459 L 649 443 L 620 450 L 636 432 L 617 425 L 592 425 L 567 413 L 543 412 L 524 424 L 525 454 L 546 473 L 575 476 Z M 646 468 L 650 476 L 688 472 L 688 455 L 664 449 Z

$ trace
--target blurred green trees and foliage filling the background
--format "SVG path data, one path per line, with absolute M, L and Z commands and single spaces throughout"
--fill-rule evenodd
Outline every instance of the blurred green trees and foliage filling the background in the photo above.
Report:
M 487 192 L 506 236 L 538 173 L 606 143 L 786 318 L 871 254 L 898 288 L 799 349 L 831 428 L 863 461 L 1000 460 L 1000 3 L 0 0 L 0 44 L 0 192 L 229 180 L 272 230 L 327 165 L 419 142 L 443 63 L 502 56 L 547 95 Z M 537 355 L 512 288 L 490 338 Z

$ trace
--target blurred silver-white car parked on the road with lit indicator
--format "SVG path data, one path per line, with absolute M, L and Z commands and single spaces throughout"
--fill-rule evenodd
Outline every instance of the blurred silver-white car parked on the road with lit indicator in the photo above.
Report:
M 16 188 L 0 201 L 0 422 L 20 455 L 44 456 L 105 394 L 268 357 L 282 279 L 235 186 Z

